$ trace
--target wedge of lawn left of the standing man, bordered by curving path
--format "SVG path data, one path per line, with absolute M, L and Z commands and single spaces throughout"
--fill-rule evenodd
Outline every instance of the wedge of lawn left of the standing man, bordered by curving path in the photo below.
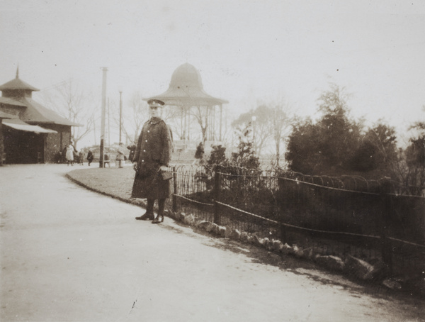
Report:
M 139 199 L 130 199 L 135 171 L 132 167 L 111 167 L 74 170 L 67 174 L 69 179 L 81 184 L 82 186 L 120 199 L 132 204 L 145 206 Z

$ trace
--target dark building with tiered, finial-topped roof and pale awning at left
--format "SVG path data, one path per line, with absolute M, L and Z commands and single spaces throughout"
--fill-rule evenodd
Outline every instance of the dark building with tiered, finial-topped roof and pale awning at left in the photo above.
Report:
M 32 98 L 35 87 L 16 78 L 0 86 L 0 158 L 6 163 L 56 162 L 71 140 L 71 126 L 55 111 Z

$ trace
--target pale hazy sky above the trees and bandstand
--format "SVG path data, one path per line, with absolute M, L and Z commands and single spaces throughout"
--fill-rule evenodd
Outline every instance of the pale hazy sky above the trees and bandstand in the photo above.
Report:
M 108 67 L 124 113 L 126 97 L 161 94 L 188 62 L 232 117 L 284 99 L 314 119 L 336 84 L 370 125 L 402 136 L 425 118 L 425 1 L 1 0 L 0 43 L 0 84 L 19 66 L 33 87 L 73 79 L 101 101 Z

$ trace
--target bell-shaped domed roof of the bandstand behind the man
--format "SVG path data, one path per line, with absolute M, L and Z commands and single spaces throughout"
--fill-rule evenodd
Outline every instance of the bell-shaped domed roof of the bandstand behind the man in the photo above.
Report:
M 202 79 L 198 70 L 191 64 L 180 65 L 171 75 L 169 89 L 149 99 L 160 99 L 166 105 L 175 106 L 214 106 L 228 103 L 225 99 L 217 99 L 203 90 Z

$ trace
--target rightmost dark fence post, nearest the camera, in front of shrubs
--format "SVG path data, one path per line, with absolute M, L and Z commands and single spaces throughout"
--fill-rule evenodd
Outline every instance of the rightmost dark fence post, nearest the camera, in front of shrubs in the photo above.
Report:
M 381 238 L 381 255 L 382 261 L 392 273 L 392 251 L 391 251 L 391 241 L 388 240 L 388 228 L 390 226 L 390 216 L 391 216 L 391 182 L 389 178 L 385 178 L 381 184 L 381 211 L 379 218 L 379 228 L 380 228 L 380 238 Z

